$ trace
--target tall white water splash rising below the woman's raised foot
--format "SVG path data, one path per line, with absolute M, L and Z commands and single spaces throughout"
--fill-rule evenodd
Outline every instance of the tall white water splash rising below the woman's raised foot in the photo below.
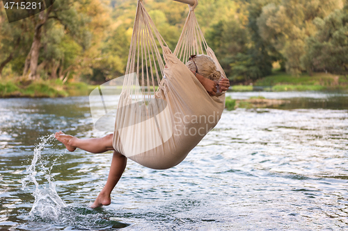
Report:
M 22 189 L 26 188 L 28 183 L 33 183 L 35 185 L 35 190 L 33 191 L 33 196 L 35 201 L 31 212 L 29 215 L 33 218 L 39 218 L 44 221 L 56 221 L 61 214 L 61 209 L 67 205 L 58 196 L 56 192 L 56 185 L 51 176 L 51 170 L 54 163 L 49 168 L 45 167 L 42 162 L 42 150 L 54 140 L 54 134 L 46 135 L 40 137 L 40 143 L 35 145 L 33 160 L 31 160 L 31 165 L 26 169 L 27 175 L 22 179 Z M 56 158 L 56 160 L 58 157 Z M 55 160 L 54 160 L 55 162 Z M 44 176 L 48 182 L 44 185 L 39 185 L 37 178 L 39 176 Z

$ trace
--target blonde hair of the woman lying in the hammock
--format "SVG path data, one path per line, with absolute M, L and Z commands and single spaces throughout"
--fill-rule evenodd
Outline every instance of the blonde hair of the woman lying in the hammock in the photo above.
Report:
M 216 81 L 221 78 L 221 72 L 216 69 L 214 60 L 208 55 L 194 55 L 189 58 L 186 65 L 191 71 L 197 71 L 198 74 L 210 80 Z

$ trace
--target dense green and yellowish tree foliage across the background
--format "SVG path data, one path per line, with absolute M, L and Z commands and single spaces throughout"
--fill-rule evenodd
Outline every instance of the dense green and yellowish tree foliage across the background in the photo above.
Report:
M 0 2 L 0 76 L 103 83 L 121 76 L 137 0 L 56 0 L 52 8 L 9 24 Z M 173 50 L 188 7 L 144 0 Z M 199 0 L 195 10 L 209 46 L 230 80 L 269 76 L 275 63 L 348 74 L 347 0 Z

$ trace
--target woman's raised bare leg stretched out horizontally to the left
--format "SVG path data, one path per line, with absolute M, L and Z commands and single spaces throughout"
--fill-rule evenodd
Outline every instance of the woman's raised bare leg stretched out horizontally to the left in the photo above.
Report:
M 71 135 L 65 135 L 63 132 L 56 132 L 54 137 L 62 142 L 71 152 L 75 151 L 76 148 L 90 153 L 104 153 L 115 150 L 112 146 L 113 134 L 106 135 L 102 138 L 79 139 Z

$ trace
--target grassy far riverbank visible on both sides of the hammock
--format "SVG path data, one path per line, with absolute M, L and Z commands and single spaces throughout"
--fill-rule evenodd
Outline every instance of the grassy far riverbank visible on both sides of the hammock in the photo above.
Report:
M 88 95 L 95 85 L 83 82 L 64 83 L 61 80 L 38 80 L 19 82 L 17 80 L 3 80 L 0 83 L 0 98 L 15 97 L 65 97 Z M 273 75 L 256 80 L 251 85 L 232 85 L 232 92 L 302 92 L 348 89 L 348 78 L 333 74 L 315 73 L 313 76 L 301 74 L 291 76 L 284 72 L 275 71 Z

